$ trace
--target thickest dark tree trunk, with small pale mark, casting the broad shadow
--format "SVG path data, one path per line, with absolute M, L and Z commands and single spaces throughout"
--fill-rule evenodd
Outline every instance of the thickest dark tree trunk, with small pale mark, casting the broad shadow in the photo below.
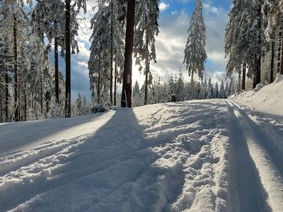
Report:
M 132 107 L 132 51 L 134 45 L 135 0 L 127 1 L 127 27 L 125 38 L 125 64 L 122 84 L 122 107 Z

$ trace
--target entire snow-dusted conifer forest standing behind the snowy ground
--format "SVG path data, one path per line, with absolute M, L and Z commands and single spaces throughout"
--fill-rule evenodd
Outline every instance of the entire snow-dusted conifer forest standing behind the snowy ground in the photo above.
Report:
M 282 1 L 234 0 L 226 26 L 227 78 L 212 85 L 204 76 L 206 32 L 202 1 L 195 1 L 184 64 L 190 82 L 179 76 L 153 79 L 160 1 L 99 0 L 91 19 L 88 61 L 93 104 L 79 94 L 71 100 L 71 54 L 79 53 L 79 13 L 87 0 L 0 1 L 0 121 L 71 117 L 96 104 L 136 107 L 177 100 L 226 98 L 252 87 L 272 83 L 283 73 Z M 54 58 L 50 59 L 51 51 Z M 66 73 L 59 69 L 63 57 Z M 144 74 L 144 85 L 132 83 L 133 59 Z M 54 63 L 52 62 L 54 61 Z M 268 71 L 266 71 L 268 70 Z M 117 90 L 122 83 L 122 90 Z M 141 88 L 139 88 L 141 86 Z

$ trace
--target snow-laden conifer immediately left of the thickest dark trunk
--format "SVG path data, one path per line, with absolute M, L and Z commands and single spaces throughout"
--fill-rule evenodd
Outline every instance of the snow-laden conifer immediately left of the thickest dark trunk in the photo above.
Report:
M 115 84 L 117 78 L 121 76 L 117 69 L 122 71 L 124 66 L 125 29 L 121 22 L 122 13 L 120 12 L 123 6 L 122 1 L 99 1 L 98 11 L 91 19 L 93 33 L 91 35 L 91 57 L 88 61 L 91 92 L 93 95 L 98 95 L 101 90 L 110 88 L 111 103 L 113 102 L 113 61 L 115 61 Z M 116 86 L 114 89 L 116 90 Z M 99 99 L 100 95 L 98 95 Z

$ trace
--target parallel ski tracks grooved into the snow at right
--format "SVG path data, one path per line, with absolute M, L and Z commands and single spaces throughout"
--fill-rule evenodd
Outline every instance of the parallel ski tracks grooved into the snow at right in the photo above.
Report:
M 233 145 L 236 146 L 241 211 L 283 211 L 282 164 L 277 163 L 282 156 L 271 151 L 268 136 L 245 111 L 231 100 L 227 102 L 231 110 Z

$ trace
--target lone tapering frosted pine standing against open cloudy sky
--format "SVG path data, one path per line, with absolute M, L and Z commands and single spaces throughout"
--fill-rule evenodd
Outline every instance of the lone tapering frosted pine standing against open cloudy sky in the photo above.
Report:
M 196 0 L 195 11 L 192 13 L 190 20 L 190 28 L 188 30 L 187 44 L 185 46 L 185 58 L 183 63 L 186 64 L 186 69 L 189 76 L 198 73 L 202 80 L 204 74 L 204 61 L 207 59 L 205 52 L 205 26 L 202 16 L 202 1 Z

